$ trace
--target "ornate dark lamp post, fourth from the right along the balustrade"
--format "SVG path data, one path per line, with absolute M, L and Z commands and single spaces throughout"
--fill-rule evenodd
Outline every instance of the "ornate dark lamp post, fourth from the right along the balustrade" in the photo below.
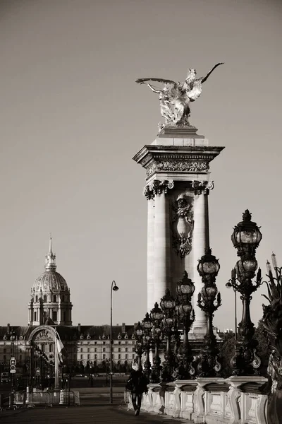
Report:
M 162 321 L 164 328 L 164 336 L 166 337 L 166 353 L 164 355 L 163 370 L 161 371 L 161 381 L 171 382 L 173 380 L 173 367 L 175 365 L 174 354 L 171 351 L 171 336 L 173 334 L 173 327 L 176 324 L 174 316 L 176 300 L 171 295 L 168 288 L 163 298 L 161 298 L 161 310 L 164 312 Z

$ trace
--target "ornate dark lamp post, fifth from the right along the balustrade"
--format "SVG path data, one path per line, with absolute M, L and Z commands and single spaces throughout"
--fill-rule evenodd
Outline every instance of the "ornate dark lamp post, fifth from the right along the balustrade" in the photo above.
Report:
M 159 375 L 161 372 L 161 358 L 159 358 L 159 343 L 161 340 L 161 320 L 164 318 L 162 310 L 159 308 L 158 303 L 154 304 L 154 308 L 150 312 L 152 319 L 152 339 L 154 340 L 155 353 L 153 358 L 152 374 L 150 381 L 152 383 L 159 383 Z

